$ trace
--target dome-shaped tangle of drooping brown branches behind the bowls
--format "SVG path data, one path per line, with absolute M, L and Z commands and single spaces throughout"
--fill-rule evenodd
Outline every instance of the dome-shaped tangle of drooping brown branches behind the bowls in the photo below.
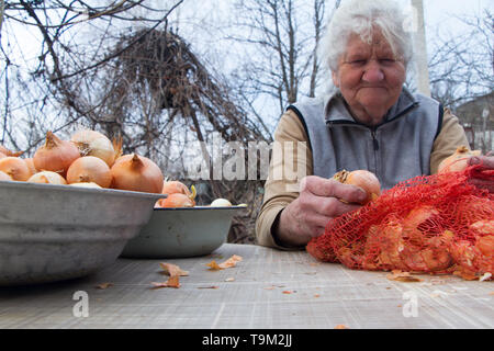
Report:
M 109 135 L 122 136 L 124 150 L 144 147 L 143 154 L 159 160 L 170 151 L 164 140 L 180 131 L 203 143 L 217 133 L 223 141 L 237 141 L 246 150 L 249 141 L 271 141 L 271 136 L 249 118 L 228 87 L 207 71 L 179 35 L 141 30 L 122 36 L 114 50 L 123 47 L 127 48 L 116 58 L 106 79 L 105 117 L 101 123 Z M 212 155 L 206 149 L 202 154 L 212 163 Z M 247 159 L 245 162 L 247 169 Z M 262 201 L 262 180 L 213 180 L 212 167 L 210 172 L 204 201 L 225 197 L 232 203 L 247 203 L 249 210 L 234 219 L 228 241 L 251 242 Z M 167 170 L 165 173 L 175 178 Z

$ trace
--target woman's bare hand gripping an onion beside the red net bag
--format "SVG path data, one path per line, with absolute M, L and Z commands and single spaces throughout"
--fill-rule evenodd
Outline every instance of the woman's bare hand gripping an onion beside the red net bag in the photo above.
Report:
M 329 220 L 359 208 L 367 193 L 334 179 L 308 176 L 301 180 L 300 195 L 290 203 L 273 228 L 282 246 L 300 247 L 324 234 Z

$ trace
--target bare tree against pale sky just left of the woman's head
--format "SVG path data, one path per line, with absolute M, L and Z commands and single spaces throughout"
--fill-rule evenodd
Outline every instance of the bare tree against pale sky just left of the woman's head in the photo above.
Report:
M 317 46 L 326 1 L 239 0 L 236 7 L 242 16 L 228 37 L 245 44 L 250 58 L 236 76 L 244 97 L 271 97 L 279 112 L 301 92 L 314 97 L 321 79 Z

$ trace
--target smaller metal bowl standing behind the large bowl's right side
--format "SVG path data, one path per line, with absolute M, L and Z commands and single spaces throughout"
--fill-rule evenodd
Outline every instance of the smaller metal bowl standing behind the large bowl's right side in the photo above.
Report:
M 209 254 L 226 241 L 233 217 L 245 208 L 155 208 L 149 223 L 128 240 L 122 257 L 164 259 Z

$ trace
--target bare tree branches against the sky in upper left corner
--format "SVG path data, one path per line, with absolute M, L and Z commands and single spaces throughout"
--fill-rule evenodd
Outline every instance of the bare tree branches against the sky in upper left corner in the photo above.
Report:
M 98 120 L 100 102 L 92 94 L 97 90 L 94 78 L 100 68 L 134 44 L 128 43 L 120 52 L 109 50 L 115 32 L 132 25 L 145 25 L 148 31 L 164 25 L 182 1 L 168 1 L 159 15 L 146 18 L 138 15 L 139 11 L 153 10 L 145 0 L 104 1 L 104 5 L 101 1 L 5 1 L 0 143 L 29 154 L 47 128 L 66 132 L 81 118 Z M 24 46 L 34 47 L 35 42 L 40 45 L 33 59 Z M 14 133 L 22 122 L 27 126 L 25 132 Z

